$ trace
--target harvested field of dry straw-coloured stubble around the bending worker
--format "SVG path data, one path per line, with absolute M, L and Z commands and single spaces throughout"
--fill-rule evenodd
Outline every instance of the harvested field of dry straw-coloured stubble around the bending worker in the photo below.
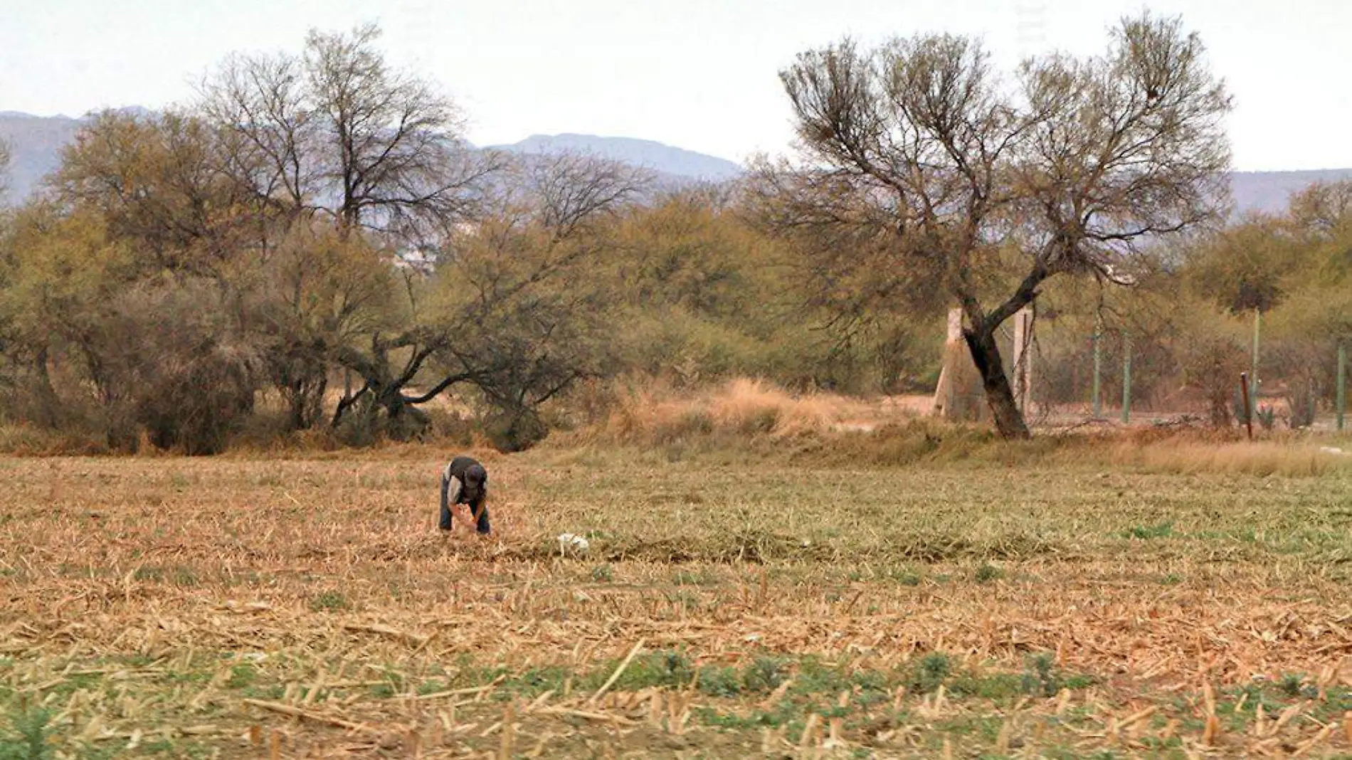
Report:
M 1348 468 L 446 454 L 0 458 L 0 757 L 1352 756 Z

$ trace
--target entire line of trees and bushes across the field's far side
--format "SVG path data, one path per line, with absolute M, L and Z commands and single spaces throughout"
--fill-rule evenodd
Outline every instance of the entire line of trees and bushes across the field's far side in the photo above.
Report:
M 519 449 L 623 375 L 927 392 L 960 306 L 1021 435 L 996 338 L 1033 300 L 1044 402 L 1084 400 L 1099 320 L 1132 335 L 1146 403 L 1186 391 L 1217 418 L 1242 315 L 1265 315 L 1264 372 L 1306 392 L 1352 331 L 1352 184 L 1218 224 L 1229 100 L 1172 20 L 1013 88 L 950 37 L 804 54 L 783 74 L 804 160 L 684 188 L 475 150 L 377 39 L 312 32 L 228 58 L 191 104 L 91 122 L 0 222 L 4 419 L 212 453 L 408 438 L 453 395 Z

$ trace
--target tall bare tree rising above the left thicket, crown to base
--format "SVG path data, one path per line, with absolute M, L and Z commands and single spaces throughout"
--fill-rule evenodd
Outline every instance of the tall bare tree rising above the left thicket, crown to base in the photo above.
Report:
M 335 252 L 346 250 L 345 262 L 380 252 L 375 258 L 388 268 L 410 250 L 439 247 L 479 216 L 488 180 L 504 165 L 465 145 L 456 105 L 389 66 L 379 37 L 369 24 L 311 31 L 301 54 L 234 55 L 200 88 L 201 112 L 220 127 L 222 170 L 261 210 L 265 258 L 280 257 L 273 269 L 289 283 L 291 292 L 274 288 L 272 331 L 284 350 L 273 373 L 300 425 L 314 419 L 331 364 L 364 381 L 339 402 L 335 422 L 358 400 L 400 418 L 418 398 L 403 388 L 439 346 L 416 318 L 420 284 L 387 277 L 396 292 L 383 299 L 385 318 L 372 318 L 370 287 L 380 277 L 347 266 L 335 279 L 326 270 Z M 339 239 L 292 245 L 322 223 Z M 314 293 L 329 291 L 343 298 L 331 312 L 315 311 Z M 361 298 L 346 298 L 353 292 Z

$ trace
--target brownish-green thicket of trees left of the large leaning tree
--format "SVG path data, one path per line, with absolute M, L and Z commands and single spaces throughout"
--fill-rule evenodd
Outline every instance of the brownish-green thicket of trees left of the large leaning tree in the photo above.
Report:
M 4 223 L 7 418 L 210 453 L 260 421 L 407 438 L 454 392 L 521 448 L 545 404 L 625 371 L 867 385 L 865 348 L 791 308 L 726 191 L 470 149 L 377 37 L 312 32 L 228 58 L 185 107 L 92 120 Z

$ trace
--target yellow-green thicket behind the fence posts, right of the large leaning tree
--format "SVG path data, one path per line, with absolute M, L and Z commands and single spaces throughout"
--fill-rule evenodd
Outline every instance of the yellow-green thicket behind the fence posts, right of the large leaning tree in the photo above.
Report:
M 1084 402 L 1102 319 L 1106 398 L 1121 387 L 1132 343 L 1136 404 L 1195 411 L 1215 425 L 1242 415 L 1238 376 L 1251 369 L 1261 320 L 1257 404 L 1291 427 L 1336 398 L 1337 346 L 1352 348 L 1352 181 L 1314 184 L 1278 215 L 1249 215 L 1156 252 L 1132 288 L 1049 291 L 1041 302 L 1040 394 Z M 1280 402 L 1280 403 L 1278 403 Z

